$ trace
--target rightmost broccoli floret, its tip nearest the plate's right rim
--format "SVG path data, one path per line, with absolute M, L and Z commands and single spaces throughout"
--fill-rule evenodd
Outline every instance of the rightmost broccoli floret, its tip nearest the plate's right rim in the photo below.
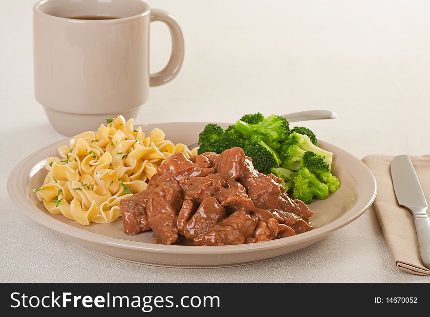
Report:
M 301 166 L 317 176 L 317 178 L 327 185 L 332 193 L 341 187 L 341 182 L 330 171 L 330 166 L 324 162 L 323 157 L 314 152 L 306 152 L 301 158 Z

